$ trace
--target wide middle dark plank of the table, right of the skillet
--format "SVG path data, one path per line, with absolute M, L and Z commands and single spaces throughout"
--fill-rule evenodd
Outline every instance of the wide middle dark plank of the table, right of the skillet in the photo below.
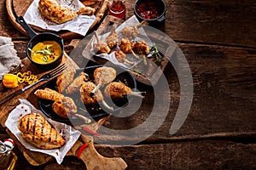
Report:
M 145 142 L 177 137 L 189 139 L 191 138 L 189 135 L 195 135 L 194 138 L 210 134 L 218 136 L 218 133 L 224 133 L 223 135 L 230 137 L 242 133 L 255 136 L 256 127 L 253 117 L 256 110 L 256 60 L 254 57 L 256 50 L 195 44 L 178 45 L 189 61 L 194 81 L 194 98 L 189 116 L 177 133 L 169 134 L 180 99 L 177 74 L 170 65 L 165 71 L 171 89 L 170 111 L 166 121 Z M 143 85 L 139 85 L 138 88 L 140 91 L 145 90 Z M 152 101 L 154 94 L 150 88 L 147 90 L 139 111 L 125 118 L 111 116 L 105 126 L 113 129 L 129 129 L 144 122 L 154 105 Z M 160 95 L 164 96 L 164 93 Z M 147 133 L 147 130 L 144 129 L 140 133 Z M 124 136 L 114 135 L 99 138 L 110 143 L 127 139 Z

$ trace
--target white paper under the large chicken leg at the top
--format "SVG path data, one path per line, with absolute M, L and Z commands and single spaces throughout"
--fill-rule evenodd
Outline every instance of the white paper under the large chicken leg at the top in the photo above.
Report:
M 61 3 L 61 6 L 66 8 L 71 8 L 74 10 L 78 10 L 79 8 L 84 7 L 84 4 L 79 2 L 79 0 L 74 0 L 71 5 L 67 5 L 66 3 L 63 3 L 61 0 L 56 0 L 56 1 Z M 29 8 L 27 8 L 26 14 L 24 15 L 24 20 L 26 20 L 27 24 L 38 26 L 40 28 L 43 28 L 44 30 L 51 30 L 51 31 L 67 30 L 67 31 L 72 31 L 85 36 L 90 26 L 96 20 L 95 15 L 88 16 L 88 15 L 81 14 L 73 20 L 69 20 L 62 24 L 56 24 L 54 22 L 51 22 L 49 20 L 44 20 L 42 18 L 38 9 L 38 2 L 39 0 L 34 0 L 29 6 Z

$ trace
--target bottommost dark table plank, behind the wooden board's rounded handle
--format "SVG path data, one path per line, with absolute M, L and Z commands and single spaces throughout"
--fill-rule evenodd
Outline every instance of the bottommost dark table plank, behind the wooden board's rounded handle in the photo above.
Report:
M 254 169 L 256 145 L 206 140 L 173 144 L 142 144 L 125 147 L 96 145 L 102 156 L 121 156 L 129 169 Z M 20 164 L 22 165 L 22 163 Z M 67 156 L 61 165 L 22 167 L 30 169 L 84 169 L 83 162 Z

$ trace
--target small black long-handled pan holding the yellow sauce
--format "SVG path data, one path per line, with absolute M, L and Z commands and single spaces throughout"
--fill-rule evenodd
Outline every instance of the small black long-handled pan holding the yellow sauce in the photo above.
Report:
M 59 37 L 58 35 L 51 33 L 51 32 L 43 32 L 40 34 L 37 34 L 35 31 L 32 30 L 30 26 L 26 24 L 26 21 L 22 16 L 18 17 L 16 19 L 16 22 L 20 24 L 25 30 L 27 35 L 30 37 L 30 41 L 26 45 L 26 56 L 28 59 L 31 60 L 31 62 L 34 65 L 37 65 L 38 68 L 43 69 L 43 70 L 49 70 L 55 68 L 56 65 L 59 65 L 61 63 L 62 55 L 64 53 L 64 43 L 63 39 Z M 55 41 L 61 46 L 61 54 L 58 56 L 55 61 L 49 63 L 49 64 L 38 64 L 34 62 L 31 58 L 31 51 L 28 50 L 28 48 L 33 48 L 38 42 L 44 42 L 44 41 Z

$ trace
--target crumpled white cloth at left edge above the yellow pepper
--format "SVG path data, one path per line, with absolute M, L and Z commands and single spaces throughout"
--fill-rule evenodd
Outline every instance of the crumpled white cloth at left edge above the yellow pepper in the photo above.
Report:
M 17 56 L 11 38 L 0 36 L 0 80 L 3 79 L 4 74 L 14 71 L 19 65 L 21 60 Z

